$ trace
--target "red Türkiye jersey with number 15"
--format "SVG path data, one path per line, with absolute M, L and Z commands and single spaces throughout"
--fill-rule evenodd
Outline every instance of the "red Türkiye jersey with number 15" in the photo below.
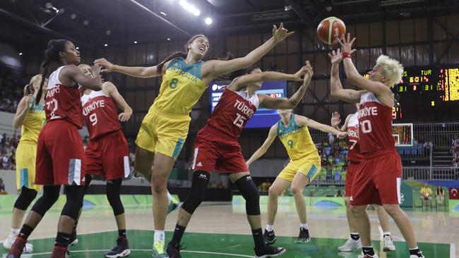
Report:
M 247 91 L 225 90 L 207 124 L 201 130 L 217 130 L 220 135 L 237 140 L 247 121 L 254 116 L 258 104 L 256 93 L 249 98 Z

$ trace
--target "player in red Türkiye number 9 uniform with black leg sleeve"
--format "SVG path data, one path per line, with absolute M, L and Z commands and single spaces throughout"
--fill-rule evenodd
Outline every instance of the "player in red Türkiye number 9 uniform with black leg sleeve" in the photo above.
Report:
M 78 68 L 86 76 L 92 75 L 90 66 L 81 64 Z M 131 250 L 126 238 L 126 216 L 119 192 L 123 178 L 127 178 L 131 171 L 129 146 L 119 122 L 128 121 L 132 109 L 112 82 L 104 82 L 100 91 L 88 88 L 83 90 L 83 118 L 90 137 L 85 149 L 85 192 L 93 179 L 92 176 L 102 176 L 107 180 L 107 199 L 117 221 L 118 239 L 117 246 L 106 252 L 105 257 L 126 257 Z M 119 115 L 117 106 L 123 111 Z

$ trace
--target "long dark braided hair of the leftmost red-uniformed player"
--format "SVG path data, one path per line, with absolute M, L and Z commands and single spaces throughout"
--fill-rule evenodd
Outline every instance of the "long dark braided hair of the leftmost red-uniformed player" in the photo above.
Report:
M 40 66 L 40 73 L 42 74 L 42 81 L 40 82 L 40 88 L 38 89 L 37 99 L 35 104 L 39 104 L 42 99 L 44 80 L 49 76 L 49 63 L 59 63 L 59 52 L 64 52 L 66 39 L 51 39 L 48 42 L 48 48 L 44 51 L 44 61 Z

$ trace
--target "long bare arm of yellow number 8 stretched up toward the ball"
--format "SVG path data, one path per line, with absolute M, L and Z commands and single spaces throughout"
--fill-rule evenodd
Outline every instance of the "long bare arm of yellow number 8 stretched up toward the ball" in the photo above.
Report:
M 264 55 L 266 55 L 276 44 L 284 40 L 286 37 L 292 35 L 293 32 L 287 32 L 287 29 L 284 28 L 284 25 L 280 23 L 279 28 L 273 25 L 273 37 L 268 39 L 267 42 L 262 44 L 260 47 L 257 47 L 249 54 L 244 57 L 240 57 L 237 59 L 232 59 L 229 61 L 222 61 L 222 60 L 210 60 L 206 61 L 203 64 L 202 68 L 202 75 L 203 79 L 210 82 L 214 78 L 225 75 L 227 73 L 231 73 L 234 70 L 239 70 L 242 68 L 246 68 L 248 66 L 252 66 L 258 60 L 261 59 Z

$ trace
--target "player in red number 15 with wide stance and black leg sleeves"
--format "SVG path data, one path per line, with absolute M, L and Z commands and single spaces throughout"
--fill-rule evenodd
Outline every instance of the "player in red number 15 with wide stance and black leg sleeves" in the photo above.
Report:
M 228 173 L 246 199 L 246 214 L 255 242 L 255 257 L 276 257 L 285 252 L 281 247 L 268 247 L 261 231 L 260 197 L 242 149 L 237 142 L 246 121 L 254 115 L 258 106 L 266 109 L 293 108 L 302 100 L 309 87 L 312 68 L 309 62 L 294 75 L 263 72 L 260 68 L 246 68 L 245 75 L 232 80 L 223 92 L 207 124 L 198 132 L 194 144 L 193 182 L 189 197 L 179 211 L 174 236 L 167 245 L 170 258 L 180 258 L 180 241 L 193 212 L 204 199 L 210 172 Z M 276 99 L 266 94 L 257 94 L 263 80 L 302 80 L 302 87 L 290 99 Z

